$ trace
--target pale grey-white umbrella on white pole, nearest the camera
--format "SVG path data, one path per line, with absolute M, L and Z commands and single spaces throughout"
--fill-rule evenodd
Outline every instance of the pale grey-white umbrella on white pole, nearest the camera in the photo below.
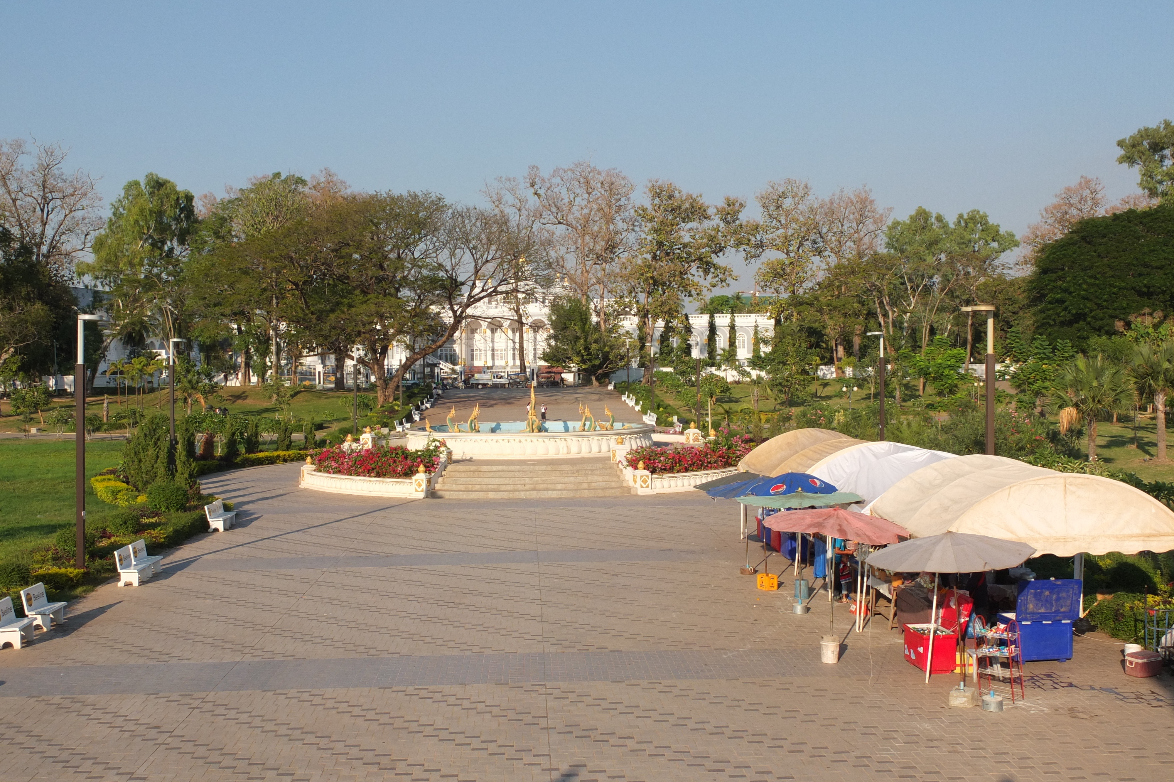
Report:
M 903 573 L 933 573 L 933 608 L 930 612 L 930 650 L 925 661 L 925 681 L 933 668 L 933 635 L 938 621 L 938 574 L 1000 571 L 1021 565 L 1035 548 L 1016 540 L 999 540 L 964 532 L 944 532 L 929 538 L 913 538 L 870 554 L 869 565 Z

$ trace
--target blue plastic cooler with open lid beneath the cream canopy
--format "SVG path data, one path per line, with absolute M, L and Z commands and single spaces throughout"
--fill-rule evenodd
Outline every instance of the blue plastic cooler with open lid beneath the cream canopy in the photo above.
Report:
M 1014 613 L 999 621 L 1019 623 L 1024 662 L 1072 659 L 1072 622 L 1080 618 L 1081 582 L 1077 579 L 1020 581 Z

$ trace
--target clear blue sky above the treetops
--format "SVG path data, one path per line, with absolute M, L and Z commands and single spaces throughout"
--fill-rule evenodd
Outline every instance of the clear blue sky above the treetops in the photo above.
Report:
M 1020 234 L 1114 142 L 1174 119 L 1174 2 L 5 6 L 0 137 L 72 148 L 107 198 L 329 166 L 475 201 L 582 157 L 716 201 L 868 184 Z M 743 285 L 749 285 L 743 278 Z

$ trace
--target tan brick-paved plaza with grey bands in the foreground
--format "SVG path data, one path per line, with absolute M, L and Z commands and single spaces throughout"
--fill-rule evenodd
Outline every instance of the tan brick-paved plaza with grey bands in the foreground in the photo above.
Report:
M 349 498 L 298 468 L 207 478 L 237 528 L 0 650 L 0 780 L 1174 778 L 1172 679 L 1104 636 L 1001 714 L 843 607 L 821 663 L 826 600 L 738 574 L 733 503 Z

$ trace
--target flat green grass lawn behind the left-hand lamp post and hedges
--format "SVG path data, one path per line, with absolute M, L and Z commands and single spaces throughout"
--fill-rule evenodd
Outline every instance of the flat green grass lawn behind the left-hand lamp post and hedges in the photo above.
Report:
M 119 464 L 121 441 L 86 444 L 86 508 L 104 513 L 113 506 L 94 496 L 89 478 Z M 0 440 L 0 561 L 48 544 L 74 523 L 74 443 Z

